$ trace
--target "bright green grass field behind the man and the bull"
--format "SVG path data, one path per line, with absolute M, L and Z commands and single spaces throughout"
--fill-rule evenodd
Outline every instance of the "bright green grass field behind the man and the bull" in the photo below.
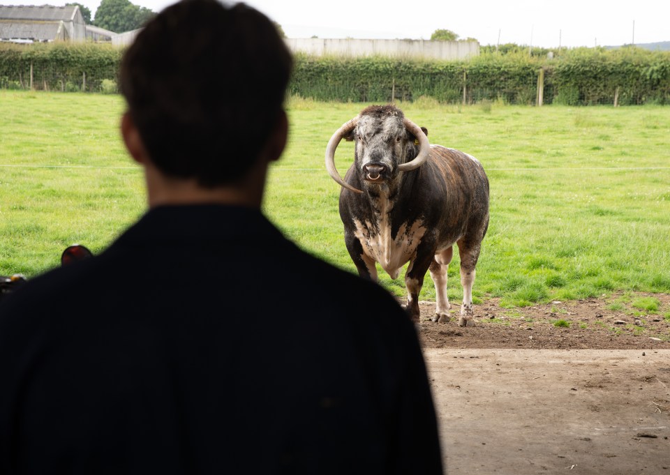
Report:
M 288 106 L 290 144 L 271 170 L 265 211 L 300 246 L 354 271 L 323 156 L 334 130 L 364 105 L 294 98 Z M 487 170 L 491 225 L 478 299 L 524 306 L 670 292 L 670 107 L 400 106 L 431 142 L 471 153 Z M 144 212 L 142 174 L 117 130 L 122 110 L 119 96 L 0 91 L 0 274 L 34 276 L 75 242 L 99 252 Z M 350 143 L 338 149 L 341 174 L 352 153 Z M 458 266 L 456 257 L 456 300 Z M 403 294 L 402 275 L 380 275 Z M 421 298 L 434 299 L 430 278 Z

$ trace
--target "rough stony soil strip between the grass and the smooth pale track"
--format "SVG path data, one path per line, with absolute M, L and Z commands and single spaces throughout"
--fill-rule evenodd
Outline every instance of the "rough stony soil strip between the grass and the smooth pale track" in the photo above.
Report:
M 657 299 L 658 310 L 633 306 L 644 298 Z M 474 328 L 458 325 L 460 302 L 452 302 L 447 324 L 431 322 L 434 302 L 419 302 L 419 308 L 424 348 L 670 349 L 668 294 L 614 294 L 511 309 L 490 299 L 475 305 Z

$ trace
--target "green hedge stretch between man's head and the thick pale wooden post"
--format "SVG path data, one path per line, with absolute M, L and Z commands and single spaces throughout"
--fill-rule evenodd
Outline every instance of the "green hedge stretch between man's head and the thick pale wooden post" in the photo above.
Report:
M 317 100 L 388 102 L 429 96 L 445 103 L 535 100 L 537 59 L 479 56 L 470 61 L 296 57 L 290 92 Z

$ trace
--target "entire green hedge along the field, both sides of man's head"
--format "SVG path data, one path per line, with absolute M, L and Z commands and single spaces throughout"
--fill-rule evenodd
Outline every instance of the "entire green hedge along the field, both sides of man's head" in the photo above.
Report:
M 122 51 L 107 45 L 0 43 L 0 88 L 116 91 Z M 628 47 L 563 50 L 556 58 L 485 52 L 466 61 L 297 54 L 290 93 L 315 100 L 388 102 L 429 96 L 444 103 L 669 104 L 670 53 Z

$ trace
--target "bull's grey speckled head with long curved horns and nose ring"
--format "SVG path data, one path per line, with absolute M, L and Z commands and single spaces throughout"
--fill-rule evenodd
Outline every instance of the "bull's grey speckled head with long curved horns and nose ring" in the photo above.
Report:
M 364 183 L 379 184 L 423 165 L 430 153 L 424 130 L 392 105 L 373 105 L 346 122 L 326 147 L 326 169 L 348 190 L 363 193 L 344 181 L 335 167 L 335 149 L 342 139 L 356 141 L 355 167 Z M 415 145 L 418 142 L 418 146 Z

